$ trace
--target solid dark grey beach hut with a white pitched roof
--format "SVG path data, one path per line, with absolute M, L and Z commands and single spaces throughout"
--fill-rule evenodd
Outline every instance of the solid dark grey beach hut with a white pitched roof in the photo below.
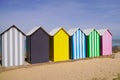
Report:
M 27 34 L 27 60 L 31 64 L 49 61 L 49 34 L 35 27 Z

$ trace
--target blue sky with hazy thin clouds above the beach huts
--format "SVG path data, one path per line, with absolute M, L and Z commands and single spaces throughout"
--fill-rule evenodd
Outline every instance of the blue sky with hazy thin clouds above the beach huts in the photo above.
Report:
M 42 26 L 109 28 L 120 34 L 120 0 L 0 0 L 0 27 L 15 24 L 25 33 Z

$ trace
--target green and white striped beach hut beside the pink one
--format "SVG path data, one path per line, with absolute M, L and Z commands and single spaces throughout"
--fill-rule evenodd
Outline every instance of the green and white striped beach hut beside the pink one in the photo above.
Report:
M 100 35 L 95 29 L 83 31 L 87 36 L 87 57 L 100 56 Z

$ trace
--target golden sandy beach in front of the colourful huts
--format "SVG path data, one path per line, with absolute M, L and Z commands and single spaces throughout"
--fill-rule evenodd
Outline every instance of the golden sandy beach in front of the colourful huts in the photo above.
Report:
M 114 57 L 7 70 L 0 73 L 0 80 L 112 80 L 120 73 L 120 53 Z

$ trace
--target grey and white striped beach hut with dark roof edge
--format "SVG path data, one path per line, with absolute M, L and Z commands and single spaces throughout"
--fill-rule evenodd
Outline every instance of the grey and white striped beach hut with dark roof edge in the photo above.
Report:
M 0 34 L 2 66 L 18 66 L 24 64 L 25 34 L 15 25 Z

